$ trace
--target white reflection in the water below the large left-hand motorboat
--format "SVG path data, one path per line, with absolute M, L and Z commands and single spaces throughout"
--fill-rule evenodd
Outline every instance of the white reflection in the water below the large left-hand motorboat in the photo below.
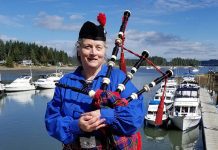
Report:
M 7 100 L 9 101 L 15 101 L 22 105 L 34 105 L 34 95 L 35 90 L 31 91 L 23 91 L 23 92 L 11 92 L 7 93 Z

